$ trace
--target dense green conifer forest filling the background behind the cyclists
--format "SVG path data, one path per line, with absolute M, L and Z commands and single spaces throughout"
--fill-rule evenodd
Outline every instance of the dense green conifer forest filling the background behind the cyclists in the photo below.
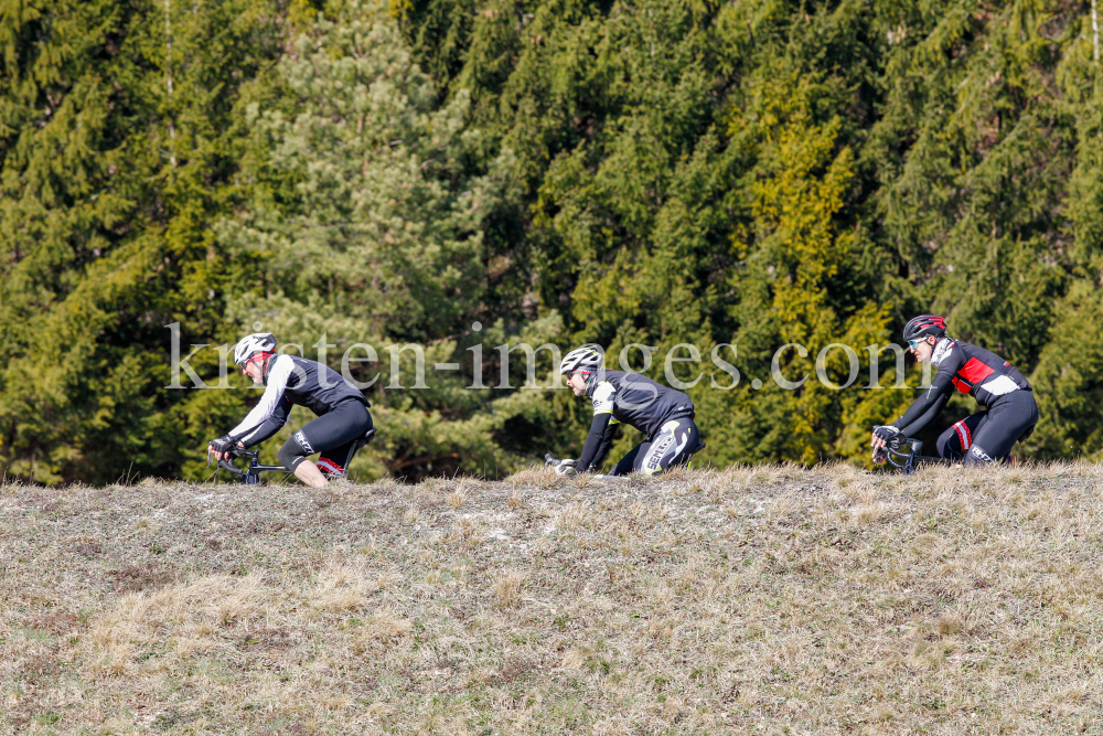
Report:
M 696 354 L 696 465 L 866 463 L 922 371 L 870 380 L 865 346 L 924 312 L 1030 381 L 1018 458 L 1103 458 L 1097 28 L 1094 0 L 0 2 L 0 467 L 206 478 L 255 326 L 378 375 L 363 478 L 577 452 L 589 403 L 525 388 L 518 343 L 654 346 L 661 383 Z M 414 388 L 407 344 L 461 369 Z

